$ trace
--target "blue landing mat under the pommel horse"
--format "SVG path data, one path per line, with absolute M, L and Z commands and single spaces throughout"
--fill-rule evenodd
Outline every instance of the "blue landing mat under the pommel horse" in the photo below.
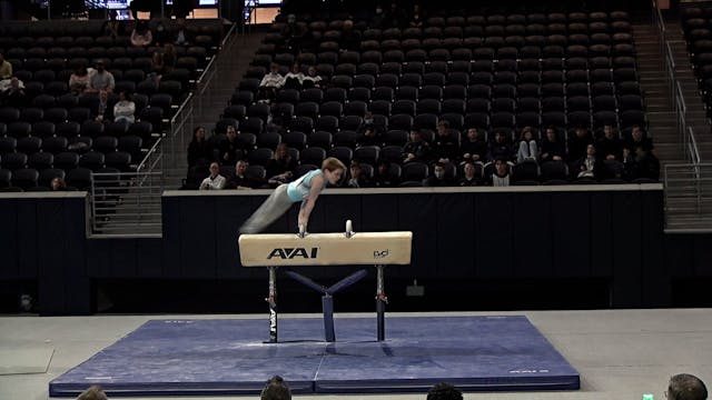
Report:
M 256 394 L 280 374 L 295 393 L 578 389 L 578 372 L 523 316 L 336 318 L 336 342 L 320 318 L 151 320 L 49 383 L 76 397 L 90 384 L 111 396 Z

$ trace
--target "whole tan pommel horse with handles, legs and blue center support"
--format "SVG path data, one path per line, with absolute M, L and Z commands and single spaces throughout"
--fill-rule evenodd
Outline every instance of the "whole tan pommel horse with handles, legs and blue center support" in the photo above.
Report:
M 388 301 L 384 290 L 385 264 L 409 264 L 413 232 L 354 232 L 346 221 L 344 233 L 241 234 L 238 239 L 243 267 L 267 267 L 269 271 L 269 343 L 277 336 L 277 268 L 297 266 L 375 266 L 377 339 L 385 340 L 385 311 Z M 335 341 L 332 294 L 355 283 L 366 271 L 355 272 L 329 288 L 319 286 L 294 271 L 289 277 L 324 293 L 324 332 L 326 341 Z

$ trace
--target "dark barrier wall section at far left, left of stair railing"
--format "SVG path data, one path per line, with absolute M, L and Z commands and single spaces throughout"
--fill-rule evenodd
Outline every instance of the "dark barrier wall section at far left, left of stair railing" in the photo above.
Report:
M 43 314 L 91 311 L 86 196 L 0 193 L 0 279 L 36 282 Z

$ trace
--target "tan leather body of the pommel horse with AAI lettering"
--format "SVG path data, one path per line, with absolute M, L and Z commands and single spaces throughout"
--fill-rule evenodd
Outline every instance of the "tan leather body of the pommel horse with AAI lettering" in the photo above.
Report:
M 413 232 L 241 234 L 243 267 L 409 264 Z

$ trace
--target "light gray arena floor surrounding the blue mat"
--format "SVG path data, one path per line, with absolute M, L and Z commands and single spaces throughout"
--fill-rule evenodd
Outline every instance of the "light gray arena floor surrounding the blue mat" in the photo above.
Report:
M 712 386 L 712 310 L 710 309 L 523 311 L 472 314 L 527 316 L 578 370 L 582 388 L 580 391 L 565 392 L 466 393 L 465 399 L 634 400 L 641 399 L 642 393 L 653 393 L 655 399 L 662 400 L 670 376 L 679 372 L 696 374 Z M 387 318 L 398 316 L 414 314 L 390 313 Z M 338 317 L 337 314 L 336 318 Z M 53 349 L 46 373 L 0 374 L 0 400 L 47 399 L 48 383 L 55 377 L 113 343 L 145 321 L 170 318 L 265 318 L 265 316 L 0 317 L 0 353 L 22 354 L 18 350 L 27 350 L 27 354 L 47 354 L 48 351 L 38 350 Z M 0 364 L 2 362 L 0 360 Z M 28 361 L 23 360 L 21 363 L 28 363 Z M 254 398 L 256 397 L 229 397 L 229 399 Z M 295 398 L 415 400 L 425 399 L 425 394 L 296 396 Z M 170 399 L 195 400 L 196 398 Z

